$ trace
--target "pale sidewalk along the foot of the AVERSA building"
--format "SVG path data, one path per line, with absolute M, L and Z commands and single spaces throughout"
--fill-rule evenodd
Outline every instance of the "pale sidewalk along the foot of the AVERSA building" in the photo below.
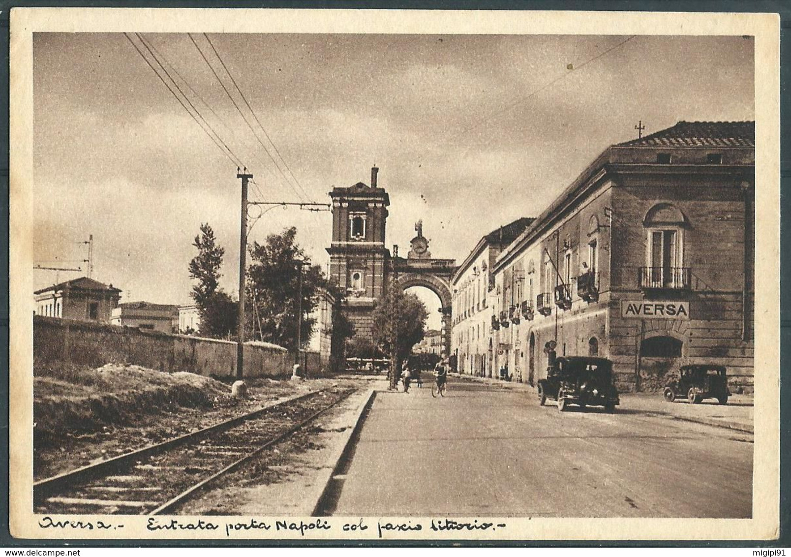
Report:
M 536 388 L 524 383 L 500 381 L 488 377 L 471 377 L 450 373 L 464 381 L 475 381 L 484 385 L 497 388 L 508 388 L 515 391 L 535 393 Z M 689 404 L 686 400 L 676 400 L 668 403 L 662 398 L 661 392 L 622 392 L 621 408 L 634 408 L 635 410 L 650 411 L 657 415 L 664 415 L 671 419 L 680 419 L 687 422 L 702 423 L 707 426 L 725 427 L 731 430 L 753 433 L 753 406 L 751 395 L 732 395 L 728 404 L 717 404 L 717 400 L 707 399 L 702 404 Z

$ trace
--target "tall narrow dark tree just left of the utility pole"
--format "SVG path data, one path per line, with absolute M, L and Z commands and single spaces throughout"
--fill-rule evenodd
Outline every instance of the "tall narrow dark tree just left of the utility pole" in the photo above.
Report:
M 191 297 L 200 313 L 200 334 L 214 339 L 228 339 L 233 334 L 237 307 L 231 297 L 221 290 L 222 257 L 225 249 L 217 244 L 209 223 L 200 225 L 200 234 L 192 243 L 198 255 L 190 261 L 190 278 L 198 281 L 192 286 Z

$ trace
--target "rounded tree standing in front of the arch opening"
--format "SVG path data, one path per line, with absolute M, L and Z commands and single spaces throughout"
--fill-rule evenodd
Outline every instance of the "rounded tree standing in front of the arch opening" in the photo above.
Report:
M 398 382 L 401 362 L 423 339 L 428 316 L 426 305 L 417 296 L 392 284 L 373 310 L 373 339 L 385 354 L 390 354 L 391 388 Z

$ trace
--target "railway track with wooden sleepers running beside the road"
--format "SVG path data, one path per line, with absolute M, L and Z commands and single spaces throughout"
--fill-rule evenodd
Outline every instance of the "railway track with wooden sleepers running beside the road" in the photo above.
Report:
M 160 514 L 339 404 L 324 388 L 33 484 L 36 513 Z

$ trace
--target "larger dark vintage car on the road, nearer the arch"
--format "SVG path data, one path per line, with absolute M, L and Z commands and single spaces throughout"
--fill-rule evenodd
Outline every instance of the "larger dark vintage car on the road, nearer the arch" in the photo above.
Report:
M 607 358 L 556 358 L 538 388 L 539 404 L 543 406 L 547 399 L 557 400 L 559 411 L 565 411 L 569 404 L 577 404 L 581 408 L 604 406 L 607 412 L 614 412 L 620 404 L 618 389 L 612 381 L 612 362 Z

